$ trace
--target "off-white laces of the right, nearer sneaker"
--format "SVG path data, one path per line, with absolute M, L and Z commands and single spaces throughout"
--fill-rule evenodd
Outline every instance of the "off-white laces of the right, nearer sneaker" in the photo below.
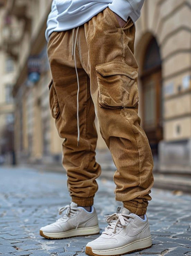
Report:
M 102 234 L 106 235 L 115 234 L 121 228 L 128 225 L 128 223 L 130 223 L 131 221 L 130 219 L 135 219 L 135 217 L 132 215 L 117 213 L 114 213 L 112 215 L 106 215 L 105 217 L 107 218 L 106 221 L 109 225 L 105 228 Z

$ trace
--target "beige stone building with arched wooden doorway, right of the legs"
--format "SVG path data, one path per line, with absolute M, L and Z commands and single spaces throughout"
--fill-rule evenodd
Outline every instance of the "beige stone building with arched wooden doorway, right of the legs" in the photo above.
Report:
M 191 0 L 145 0 L 135 45 L 155 167 L 191 172 Z

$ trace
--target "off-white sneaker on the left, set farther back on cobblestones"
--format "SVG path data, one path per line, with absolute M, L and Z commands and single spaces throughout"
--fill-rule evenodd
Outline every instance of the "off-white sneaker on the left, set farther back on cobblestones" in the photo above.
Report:
M 71 203 L 59 209 L 59 213 L 66 211 L 56 222 L 44 226 L 40 229 L 40 235 L 49 239 L 61 239 L 76 237 L 79 235 L 92 235 L 100 232 L 97 214 L 94 207 L 91 212 L 83 207 L 78 207 L 76 203 Z

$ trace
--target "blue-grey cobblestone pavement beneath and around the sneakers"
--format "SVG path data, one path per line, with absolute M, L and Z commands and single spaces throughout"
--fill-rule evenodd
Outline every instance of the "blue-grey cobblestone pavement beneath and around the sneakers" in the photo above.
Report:
M 114 184 L 99 179 L 95 207 L 101 230 L 104 215 L 115 212 Z M 147 215 L 153 246 L 130 255 L 191 256 L 191 196 L 152 190 Z M 66 175 L 28 168 L 0 167 L 0 255 L 85 256 L 86 243 L 98 235 L 62 240 L 40 237 L 39 228 L 53 222 L 60 206 L 70 202 Z

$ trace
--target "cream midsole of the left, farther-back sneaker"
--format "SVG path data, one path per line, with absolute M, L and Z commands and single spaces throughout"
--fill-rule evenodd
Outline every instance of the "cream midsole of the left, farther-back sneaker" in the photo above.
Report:
M 89 228 L 77 228 L 68 230 L 66 232 L 61 233 L 46 233 L 43 232 L 44 235 L 51 238 L 66 238 L 66 237 L 75 237 L 77 235 L 93 235 L 100 232 L 99 226 L 93 226 Z

